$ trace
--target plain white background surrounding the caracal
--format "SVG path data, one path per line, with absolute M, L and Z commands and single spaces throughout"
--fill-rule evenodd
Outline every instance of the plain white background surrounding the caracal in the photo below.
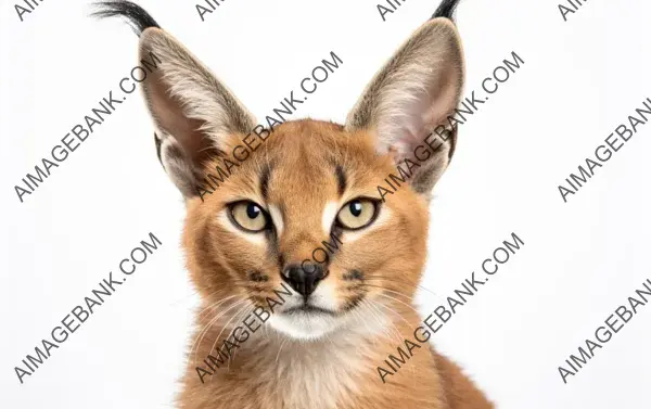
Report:
M 14 186 L 137 63 L 119 20 L 46 0 L 20 22 L 0 1 L 0 408 L 170 408 L 195 296 L 182 267 L 183 204 L 155 155 L 139 92 L 21 203 Z M 437 5 L 383 22 L 369 0 L 142 0 L 258 118 L 334 51 L 343 65 L 294 117 L 343 122 L 372 74 Z M 644 279 L 651 244 L 651 126 L 563 203 L 557 186 L 651 98 L 651 4 L 465 0 L 457 13 L 467 94 L 515 51 L 525 64 L 460 127 L 432 203 L 424 316 L 515 232 L 522 250 L 434 342 L 499 408 L 651 408 L 651 307 L 563 384 L 570 354 Z M 115 91 L 114 91 L 115 92 Z M 14 367 L 149 232 L 163 246 L 25 376 Z

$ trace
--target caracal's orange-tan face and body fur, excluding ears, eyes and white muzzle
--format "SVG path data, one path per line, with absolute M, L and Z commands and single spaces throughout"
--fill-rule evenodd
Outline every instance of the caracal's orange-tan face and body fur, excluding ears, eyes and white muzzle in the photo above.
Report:
M 321 228 L 321 210 L 324 203 L 337 195 L 334 164 L 344 166 L 349 175 L 352 187 L 346 194 L 350 196 L 376 196 L 378 181 L 395 171 L 388 156 L 375 154 L 373 138 L 368 132 L 347 133 L 341 126 L 329 123 L 285 123 L 226 184 L 206 195 L 205 203 L 199 199 L 189 201 L 183 242 L 188 268 L 203 298 L 203 307 L 232 294 L 246 299 L 252 294 L 273 296 L 272 290 L 281 285 L 277 259 L 269 257 L 265 247 L 251 245 L 216 222 L 216 215 L 233 197 L 259 195 L 257 179 L 263 166 L 270 163 L 273 168 L 269 202 L 283 207 L 286 216 L 285 233 L 279 241 L 280 253 L 292 259 L 309 258 L 311 250 L 329 239 Z M 207 166 L 206 171 L 209 170 Z M 384 206 L 391 217 L 372 234 L 352 243 L 346 242 L 346 233 L 343 235 L 343 251 L 336 254 L 326 280 L 337 287 L 337 299 L 342 304 L 359 290 L 346 290 L 341 276 L 358 268 L 373 285 L 394 291 L 395 298 L 411 305 L 424 263 L 427 207 L 425 201 L 407 187 L 390 196 Z M 250 269 L 264 271 L 270 280 L 248 283 L 245 271 Z M 367 298 L 385 307 L 360 307 L 357 317 L 350 314 L 354 324 L 349 329 L 329 334 L 323 341 L 291 340 L 270 330 L 267 323 L 254 338 L 243 343 L 229 370 L 218 370 L 214 379 L 206 378 L 202 384 L 195 366 L 202 365 L 217 336 L 221 334 L 224 338 L 230 331 L 222 331 L 226 318 L 214 323 L 199 344 L 199 352 L 191 352 L 188 357 L 179 406 L 186 409 L 493 407 L 454 363 L 433 354 L 426 344 L 383 384 L 376 366 L 383 365 L 388 354 L 395 354 L 396 347 L 404 345 L 403 338 L 413 340 L 413 329 L 421 318 L 412 308 L 379 296 L 382 289 L 366 290 Z M 220 306 L 219 310 L 224 309 L 225 306 Z M 200 315 L 197 329 L 207 325 L 216 314 Z M 239 324 L 242 318 L 232 320 L 230 327 Z M 196 338 L 200 333 L 194 335 Z M 216 355 L 214 349 L 213 354 Z

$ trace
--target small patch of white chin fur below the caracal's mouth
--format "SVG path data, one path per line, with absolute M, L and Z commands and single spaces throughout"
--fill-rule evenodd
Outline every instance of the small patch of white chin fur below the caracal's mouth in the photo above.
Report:
M 336 317 L 321 314 L 276 314 L 269 318 L 269 324 L 279 332 L 296 340 L 318 340 L 340 327 Z

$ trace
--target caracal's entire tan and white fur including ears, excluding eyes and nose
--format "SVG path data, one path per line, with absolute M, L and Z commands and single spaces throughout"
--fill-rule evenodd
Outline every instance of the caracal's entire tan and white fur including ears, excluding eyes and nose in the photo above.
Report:
M 144 97 L 161 162 L 186 197 L 183 247 L 202 298 L 179 407 L 493 408 L 427 343 L 386 383 L 376 370 L 405 338 L 413 341 L 421 325 L 413 296 L 425 261 L 427 195 L 449 164 L 456 131 L 407 183 L 387 194 L 372 225 L 343 230 L 343 244 L 324 267 L 328 276 L 310 295 L 334 318 L 305 315 L 299 317 L 310 318 L 296 322 L 279 307 L 234 349 L 228 366 L 205 383 L 196 371 L 256 306 L 268 307 L 265 299 L 283 284 L 286 266 L 310 259 L 330 241 L 339 209 L 360 196 L 380 199 L 378 186 L 398 174 L 396 165 L 458 105 L 463 53 L 454 24 L 435 18 L 416 30 L 375 75 L 346 125 L 289 122 L 265 141 L 250 133 L 253 115 L 174 37 L 145 29 L 141 57 L 151 52 L 162 63 L 143 84 Z M 230 152 L 245 138 L 257 148 L 245 161 L 234 161 Z M 239 165 L 202 201 L 196 187 L 216 165 L 225 169 L 225 155 Z M 345 175 L 343 192 L 337 171 Z M 269 176 L 266 192 L 264 175 Z M 275 229 L 244 233 L 234 227 L 227 210 L 239 201 L 258 204 L 272 216 Z M 352 271 L 362 278 L 350 279 Z

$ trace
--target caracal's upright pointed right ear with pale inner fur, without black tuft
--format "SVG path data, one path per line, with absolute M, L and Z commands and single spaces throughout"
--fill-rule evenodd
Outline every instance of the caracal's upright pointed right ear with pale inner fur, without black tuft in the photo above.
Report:
M 454 153 L 457 130 L 443 129 L 459 104 L 463 69 L 454 23 L 443 17 L 429 21 L 375 74 L 348 114 L 346 130 L 373 133 L 376 152 L 391 153 L 396 165 L 405 159 L 419 164 L 410 183 L 417 192 L 429 193 Z M 437 132 L 430 136 L 434 129 Z M 414 156 L 419 144 L 431 152 L 425 161 Z

